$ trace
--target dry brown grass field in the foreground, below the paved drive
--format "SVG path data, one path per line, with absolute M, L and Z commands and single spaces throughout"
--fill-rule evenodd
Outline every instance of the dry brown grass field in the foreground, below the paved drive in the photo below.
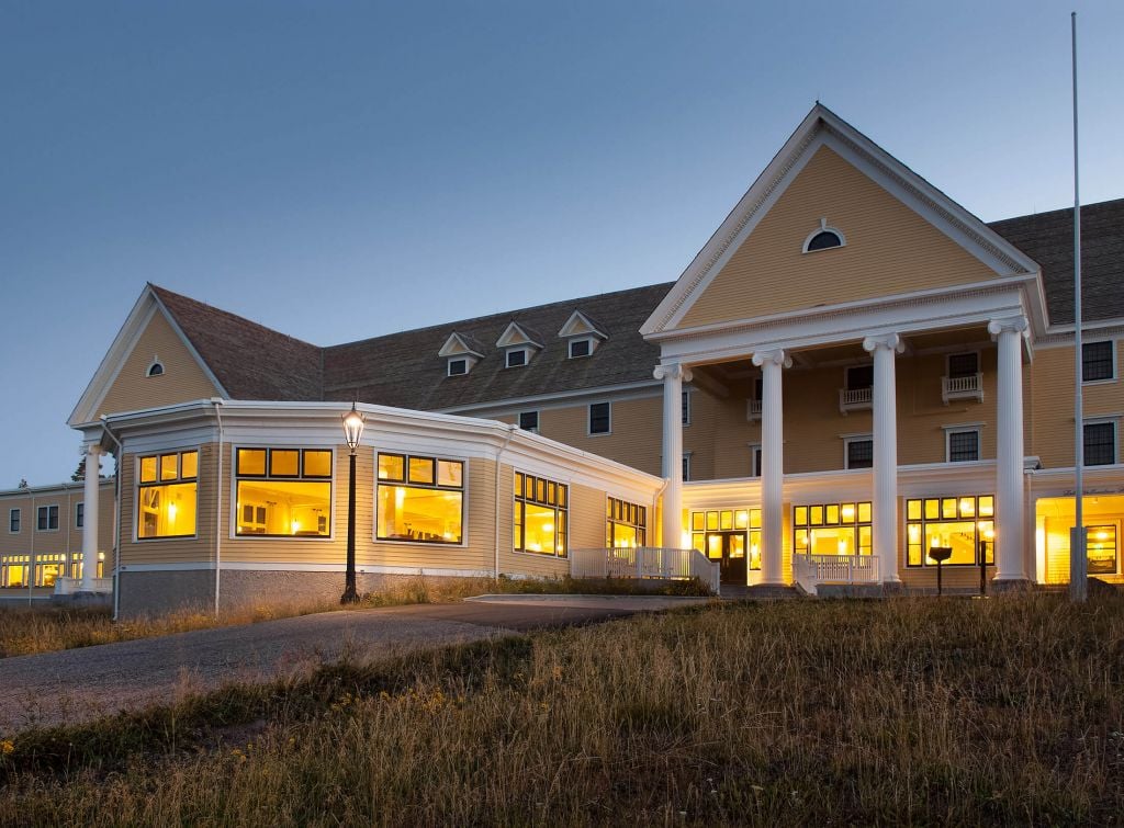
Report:
M 3 825 L 1118 824 L 1124 599 L 710 604 L 0 744 Z

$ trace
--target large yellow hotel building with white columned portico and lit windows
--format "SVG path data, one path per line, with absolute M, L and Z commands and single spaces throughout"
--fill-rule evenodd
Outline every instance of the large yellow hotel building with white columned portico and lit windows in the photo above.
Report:
M 985 224 L 819 104 L 674 283 L 328 347 L 149 284 L 70 419 L 121 610 L 338 593 L 353 400 L 361 589 L 659 546 L 814 592 L 1064 582 L 1079 380 L 1118 581 L 1124 200 L 1082 225 L 1080 377 L 1072 212 Z

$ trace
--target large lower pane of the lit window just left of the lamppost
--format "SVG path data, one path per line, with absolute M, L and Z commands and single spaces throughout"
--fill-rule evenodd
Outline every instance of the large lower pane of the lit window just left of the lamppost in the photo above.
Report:
M 238 481 L 238 535 L 326 537 L 332 484 L 281 480 Z

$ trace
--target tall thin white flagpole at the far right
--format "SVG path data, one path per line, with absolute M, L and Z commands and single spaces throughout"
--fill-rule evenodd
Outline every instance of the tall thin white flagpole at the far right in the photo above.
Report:
M 1081 352 L 1081 194 L 1077 149 L 1077 12 L 1070 15 L 1073 49 L 1073 531 L 1069 544 L 1069 597 L 1088 598 L 1088 558 L 1085 536 L 1085 400 L 1081 388 L 1085 360 Z

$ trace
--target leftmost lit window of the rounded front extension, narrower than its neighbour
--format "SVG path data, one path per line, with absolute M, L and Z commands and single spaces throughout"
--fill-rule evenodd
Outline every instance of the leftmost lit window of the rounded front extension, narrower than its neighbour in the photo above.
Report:
M 154 454 L 137 465 L 137 537 L 194 535 L 199 452 Z

